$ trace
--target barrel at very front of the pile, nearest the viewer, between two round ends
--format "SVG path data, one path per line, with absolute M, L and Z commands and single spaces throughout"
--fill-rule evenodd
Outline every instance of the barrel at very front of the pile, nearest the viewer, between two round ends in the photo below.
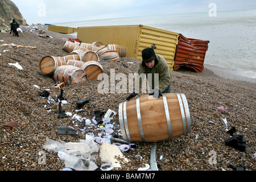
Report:
M 72 85 L 86 81 L 86 72 L 72 65 L 64 65 L 55 70 L 53 78 L 55 81 L 64 82 L 65 85 Z

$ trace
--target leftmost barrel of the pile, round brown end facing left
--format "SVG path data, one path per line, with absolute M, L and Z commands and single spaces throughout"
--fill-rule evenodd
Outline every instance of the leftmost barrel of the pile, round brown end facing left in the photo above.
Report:
M 55 69 L 62 65 L 67 65 L 67 63 L 60 57 L 54 56 L 46 56 L 39 63 L 40 71 L 48 76 L 53 76 Z

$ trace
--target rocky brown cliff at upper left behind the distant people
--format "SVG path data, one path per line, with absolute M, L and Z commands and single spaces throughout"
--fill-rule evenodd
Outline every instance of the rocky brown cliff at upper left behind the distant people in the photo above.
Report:
M 20 25 L 27 24 L 18 7 L 10 0 L 0 0 L 0 26 L 10 27 L 11 21 L 15 19 Z

